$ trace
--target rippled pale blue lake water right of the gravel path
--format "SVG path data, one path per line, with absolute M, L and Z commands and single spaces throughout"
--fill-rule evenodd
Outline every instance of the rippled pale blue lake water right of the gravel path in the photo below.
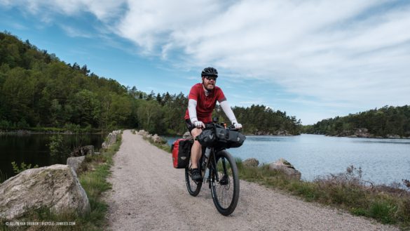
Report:
M 168 138 L 172 143 L 176 138 Z M 301 171 L 303 180 L 343 173 L 353 165 L 362 178 L 390 185 L 410 179 L 410 140 L 346 138 L 320 135 L 247 136 L 242 147 L 228 150 L 242 160 L 271 163 L 284 158 Z

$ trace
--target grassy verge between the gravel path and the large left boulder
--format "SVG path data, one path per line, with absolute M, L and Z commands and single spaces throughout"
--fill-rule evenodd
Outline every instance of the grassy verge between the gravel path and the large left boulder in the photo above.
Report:
M 87 193 L 90 202 L 90 212 L 78 216 L 76 213 L 67 212 L 55 214 L 49 209 L 40 208 L 30 211 L 18 220 L 8 220 L 9 222 L 46 222 L 48 225 L 21 225 L 6 226 L 6 220 L 0 219 L 0 230 L 106 230 L 108 205 L 102 199 L 102 193 L 111 189 L 111 184 L 107 181 L 110 176 L 109 170 L 113 164 L 113 156 L 121 145 L 121 135 L 117 136 L 116 143 L 111 145 L 108 150 L 102 150 L 100 154 L 86 156 L 83 164 L 78 168 L 78 178 L 81 186 Z M 64 225 L 57 225 L 60 222 L 67 222 Z M 69 225 L 75 223 L 75 225 Z M 50 225 L 54 224 L 54 225 Z

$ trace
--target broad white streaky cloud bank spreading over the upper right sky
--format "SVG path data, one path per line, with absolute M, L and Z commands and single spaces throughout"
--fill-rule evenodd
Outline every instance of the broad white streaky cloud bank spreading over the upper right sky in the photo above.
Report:
M 409 4 L 387 0 L 0 3 L 39 14 L 42 8 L 67 15 L 93 13 L 144 55 L 185 69 L 214 65 L 232 80 L 279 84 L 301 98 L 318 99 L 324 107 L 409 104 Z

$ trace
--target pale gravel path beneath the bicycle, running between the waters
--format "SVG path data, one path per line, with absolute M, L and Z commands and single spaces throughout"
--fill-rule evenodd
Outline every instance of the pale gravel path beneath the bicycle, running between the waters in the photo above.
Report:
M 398 230 L 244 180 L 236 210 L 221 216 L 207 186 L 191 197 L 171 154 L 130 131 L 111 171 L 109 230 Z

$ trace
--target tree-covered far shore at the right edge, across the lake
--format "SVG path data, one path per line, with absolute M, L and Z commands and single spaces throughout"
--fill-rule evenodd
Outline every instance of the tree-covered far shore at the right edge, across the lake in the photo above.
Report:
M 410 136 L 410 106 L 385 106 L 346 117 L 323 119 L 314 125 L 303 126 L 304 133 L 329 136 L 350 136 L 358 129 L 367 131 L 374 137 Z

